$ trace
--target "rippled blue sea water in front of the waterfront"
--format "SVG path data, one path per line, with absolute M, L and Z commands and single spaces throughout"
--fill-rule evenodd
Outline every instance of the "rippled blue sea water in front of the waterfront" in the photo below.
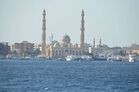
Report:
M 139 92 L 139 62 L 0 60 L 0 92 Z

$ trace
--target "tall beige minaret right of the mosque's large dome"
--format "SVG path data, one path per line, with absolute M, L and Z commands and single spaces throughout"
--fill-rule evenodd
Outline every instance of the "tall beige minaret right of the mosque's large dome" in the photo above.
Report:
M 84 47 L 84 10 L 82 10 L 81 14 L 81 34 L 80 34 L 80 47 Z

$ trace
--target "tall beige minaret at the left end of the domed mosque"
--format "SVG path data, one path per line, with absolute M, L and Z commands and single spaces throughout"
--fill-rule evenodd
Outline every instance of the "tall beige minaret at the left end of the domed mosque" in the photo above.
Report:
M 43 19 L 42 19 L 42 51 L 41 51 L 41 54 L 43 56 L 46 56 L 46 19 L 45 19 L 45 15 L 46 15 L 46 12 L 45 12 L 45 9 L 43 10 Z

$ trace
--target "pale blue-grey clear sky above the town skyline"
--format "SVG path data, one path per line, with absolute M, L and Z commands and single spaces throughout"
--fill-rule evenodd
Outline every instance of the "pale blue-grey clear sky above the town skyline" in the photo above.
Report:
M 69 35 L 80 43 L 81 11 L 85 42 L 113 46 L 139 44 L 139 0 L 0 0 L 0 42 L 41 43 L 46 10 L 46 43 Z

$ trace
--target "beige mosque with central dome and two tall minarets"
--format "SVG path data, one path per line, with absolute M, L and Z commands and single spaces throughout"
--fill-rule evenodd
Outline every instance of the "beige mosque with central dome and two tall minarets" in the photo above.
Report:
M 46 46 L 46 12 L 43 11 L 42 19 L 42 44 L 41 55 L 49 58 L 64 58 L 68 55 L 81 56 L 84 53 L 84 10 L 81 13 L 80 44 L 71 43 L 68 35 L 62 37 L 61 42 L 53 41 Z

